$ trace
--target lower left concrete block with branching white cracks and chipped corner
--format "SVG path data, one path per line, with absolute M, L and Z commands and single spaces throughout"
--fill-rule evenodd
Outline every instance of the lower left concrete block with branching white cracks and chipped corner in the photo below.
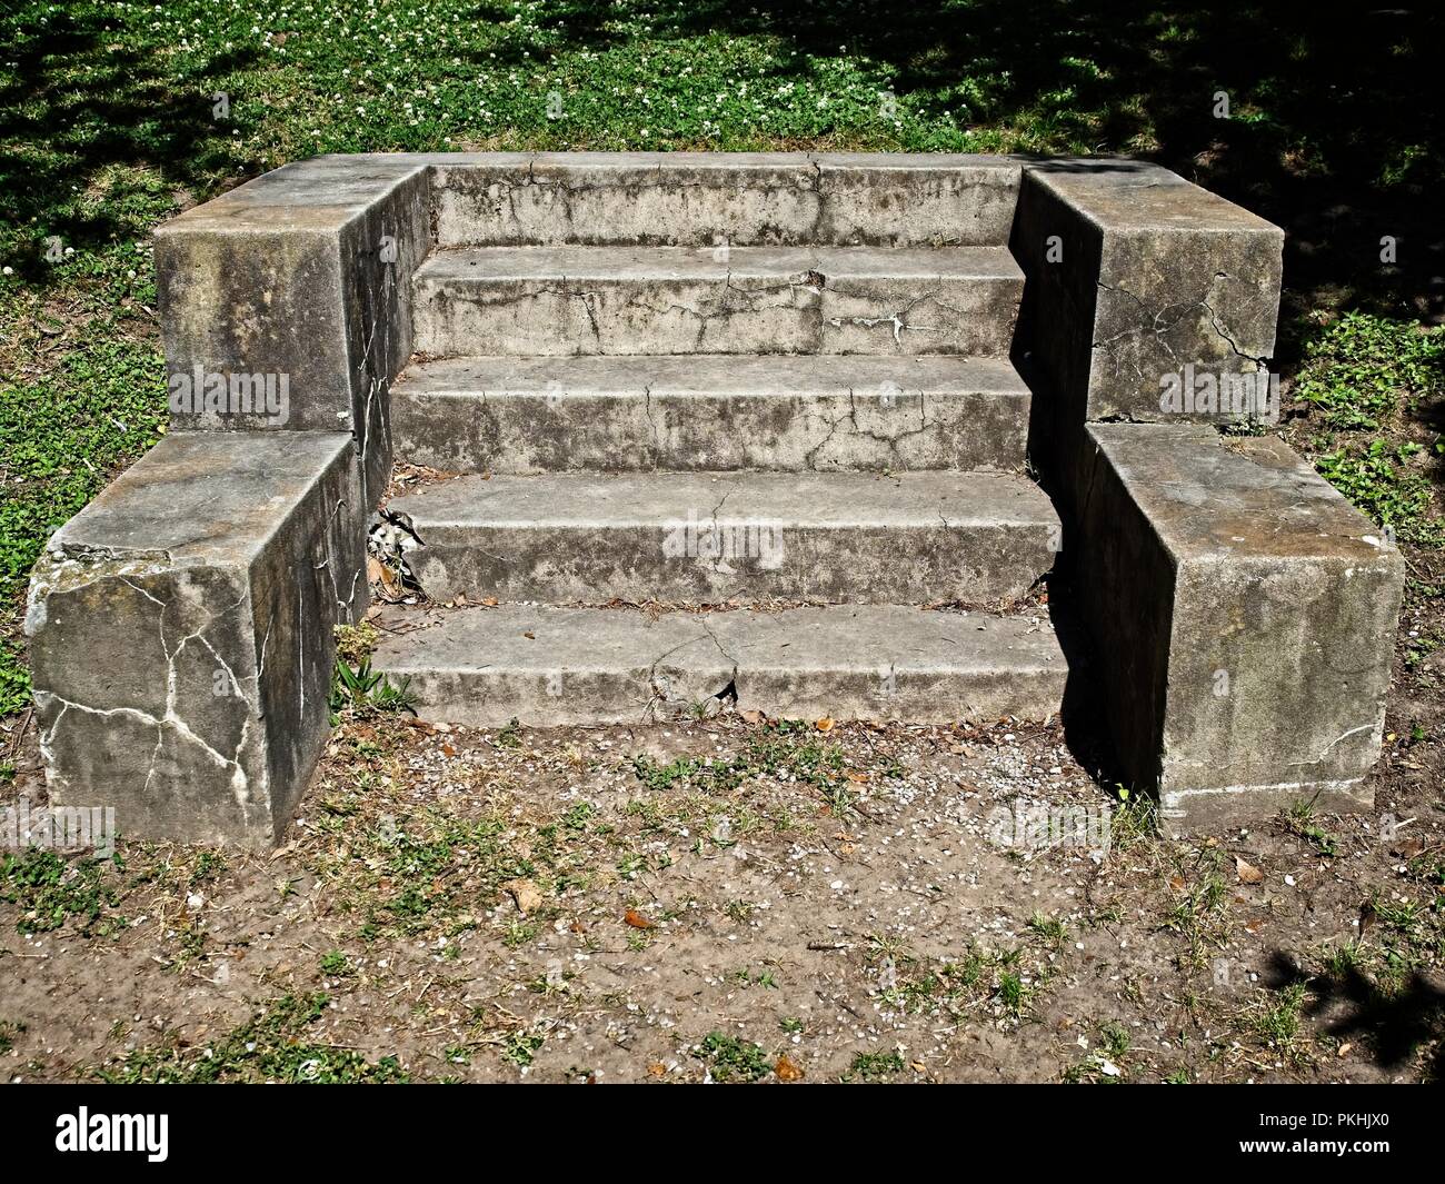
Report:
M 139 838 L 266 847 L 366 610 L 345 432 L 166 437 L 51 539 L 26 633 L 51 799 Z

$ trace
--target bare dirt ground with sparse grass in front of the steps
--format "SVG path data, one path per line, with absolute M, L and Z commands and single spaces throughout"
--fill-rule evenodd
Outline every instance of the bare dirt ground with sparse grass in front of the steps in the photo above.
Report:
M 1189 841 L 1074 724 L 350 717 L 272 856 L 12 859 L 0 1073 L 1431 1080 L 1445 662 L 1410 626 L 1373 814 Z M 1027 802 L 1110 811 L 1108 850 L 1000 841 Z

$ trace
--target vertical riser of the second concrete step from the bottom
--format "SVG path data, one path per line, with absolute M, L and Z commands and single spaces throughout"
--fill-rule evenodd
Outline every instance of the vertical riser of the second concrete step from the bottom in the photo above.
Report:
M 707 506 L 659 526 L 431 525 L 409 559 L 439 601 L 984 604 L 1023 596 L 1053 565 L 1058 545 L 1056 529 L 1042 523 L 786 526 L 724 518 L 718 528 Z M 727 554 L 715 558 L 720 546 Z

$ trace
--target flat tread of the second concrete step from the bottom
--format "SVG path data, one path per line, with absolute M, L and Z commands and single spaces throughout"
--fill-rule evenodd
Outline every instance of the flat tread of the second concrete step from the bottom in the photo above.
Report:
M 656 525 L 699 520 L 786 526 L 1053 526 L 1052 503 L 1009 473 L 543 473 L 458 477 L 394 497 L 418 533 L 432 526 Z

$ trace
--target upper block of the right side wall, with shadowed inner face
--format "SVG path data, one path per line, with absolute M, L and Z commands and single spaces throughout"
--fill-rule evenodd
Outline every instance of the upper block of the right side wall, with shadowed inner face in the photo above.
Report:
M 1267 366 L 1283 241 L 1157 165 L 1029 165 L 1010 246 L 1029 275 L 1025 347 L 1056 390 L 1040 435 L 1105 419 L 1241 418 L 1163 411 L 1160 379 L 1186 364 L 1221 377 Z

